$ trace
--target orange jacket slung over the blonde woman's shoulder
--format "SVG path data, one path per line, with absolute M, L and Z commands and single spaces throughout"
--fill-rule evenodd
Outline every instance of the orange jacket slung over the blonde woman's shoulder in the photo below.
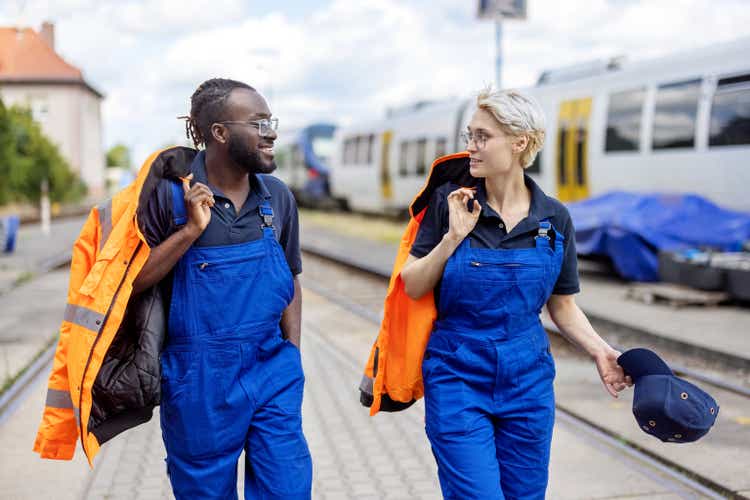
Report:
M 401 269 L 409 256 L 419 225 L 433 192 L 445 183 L 474 187 L 477 179 L 469 174 L 467 152 L 443 156 L 432 163 L 427 183 L 409 207 L 406 226 L 393 265 L 378 337 L 370 352 L 359 386 L 360 401 L 378 411 L 399 411 L 424 395 L 422 358 L 437 309 L 432 292 L 418 300 L 406 295 Z

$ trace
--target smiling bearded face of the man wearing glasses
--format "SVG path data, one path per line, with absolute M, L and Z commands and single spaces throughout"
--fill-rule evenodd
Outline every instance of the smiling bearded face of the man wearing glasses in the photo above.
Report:
M 227 153 L 234 163 L 249 174 L 269 174 L 276 169 L 273 162 L 273 143 L 276 132 L 271 130 L 261 137 L 260 129 L 250 122 L 270 119 L 271 111 L 263 97 L 247 89 L 235 89 L 226 103 L 226 121 L 230 123 Z

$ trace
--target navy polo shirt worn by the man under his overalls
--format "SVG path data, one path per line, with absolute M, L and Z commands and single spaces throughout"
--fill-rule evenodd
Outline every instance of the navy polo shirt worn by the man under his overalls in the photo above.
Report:
M 205 159 L 205 151 L 199 152 L 190 165 L 190 171 L 193 173 L 193 182 L 208 186 L 214 194 L 216 203 L 211 207 L 211 221 L 193 245 L 198 247 L 235 245 L 262 238 L 262 219 L 258 213 L 258 207 L 263 194 L 256 177 L 249 176 L 250 192 L 237 213 L 232 200 L 208 182 Z M 302 272 L 297 204 L 286 184 L 271 175 L 261 177 L 271 194 L 276 237 L 284 249 L 289 269 L 293 275 L 297 275 Z M 139 220 L 143 236 L 146 237 L 146 242 L 151 248 L 158 246 L 178 229 L 174 225 L 172 215 L 172 182 L 164 179 L 157 185 L 154 195 L 149 198 L 143 211 L 142 219 Z

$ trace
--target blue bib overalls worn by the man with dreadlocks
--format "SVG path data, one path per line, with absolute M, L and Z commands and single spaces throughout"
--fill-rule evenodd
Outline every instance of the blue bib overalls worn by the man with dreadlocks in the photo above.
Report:
M 237 498 L 243 449 L 245 498 L 310 498 L 302 363 L 279 327 L 294 282 L 258 181 L 263 237 L 193 246 L 174 268 L 161 426 L 178 499 Z

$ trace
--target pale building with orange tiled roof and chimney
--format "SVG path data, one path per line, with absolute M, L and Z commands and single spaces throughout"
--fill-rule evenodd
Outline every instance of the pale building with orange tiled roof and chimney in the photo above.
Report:
M 55 142 L 73 171 L 89 188 L 89 197 L 105 194 L 102 145 L 103 94 L 81 70 L 55 52 L 55 27 L 0 27 L 0 98 L 6 106 L 31 109 L 45 135 Z

